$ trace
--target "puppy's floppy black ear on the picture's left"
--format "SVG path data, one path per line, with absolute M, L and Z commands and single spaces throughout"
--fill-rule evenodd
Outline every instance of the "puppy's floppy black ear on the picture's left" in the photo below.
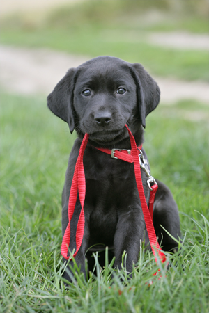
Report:
M 75 128 L 73 116 L 74 77 L 75 68 L 71 68 L 47 97 L 48 108 L 68 123 L 71 134 Z

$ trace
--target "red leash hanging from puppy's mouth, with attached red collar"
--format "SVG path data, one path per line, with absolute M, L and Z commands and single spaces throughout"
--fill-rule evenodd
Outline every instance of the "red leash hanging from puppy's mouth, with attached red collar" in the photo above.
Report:
M 157 237 L 155 234 L 155 229 L 153 226 L 153 203 L 155 200 L 155 194 L 157 191 L 157 184 L 155 182 L 155 179 L 150 176 L 150 173 L 148 172 L 148 177 L 151 177 L 151 182 L 154 182 L 155 184 L 150 187 L 150 183 L 148 179 L 148 186 L 150 188 L 150 200 L 149 200 L 149 209 L 146 204 L 146 198 L 144 195 L 144 188 L 141 180 L 141 168 L 140 168 L 140 155 L 142 154 L 141 152 L 141 147 L 139 149 L 137 148 L 136 142 L 134 140 L 134 136 L 132 135 L 130 129 L 128 129 L 127 125 L 125 125 L 127 128 L 127 131 L 130 136 L 130 143 L 132 150 L 118 150 L 118 149 L 113 149 L 113 150 L 108 150 L 108 149 L 98 149 L 101 150 L 102 152 L 111 154 L 111 157 L 114 159 L 122 159 L 123 161 L 127 161 L 130 163 L 134 163 L 134 172 L 135 172 L 135 178 L 137 182 L 137 189 L 139 192 L 139 198 L 141 201 L 141 208 L 144 214 L 144 220 L 146 224 L 146 229 L 148 232 L 148 237 L 150 241 L 150 246 L 153 251 L 153 255 L 155 255 L 155 262 L 157 263 L 157 255 L 160 258 L 161 262 L 166 261 L 166 257 L 164 253 L 162 252 L 159 243 L 157 242 Z M 72 185 L 70 188 L 70 197 L 69 197 L 69 203 L 68 203 L 68 219 L 69 223 L 68 226 L 66 227 L 65 234 L 63 236 L 63 242 L 61 245 L 61 255 L 65 259 L 71 258 L 68 256 L 68 248 L 70 245 L 70 221 L 72 219 L 72 215 L 75 210 L 75 204 L 77 201 L 77 194 L 79 193 L 79 200 L 82 206 L 79 220 L 77 223 L 77 232 L 76 232 L 76 251 L 73 255 L 75 257 L 77 255 L 77 252 L 82 245 L 82 240 L 84 236 L 84 225 L 85 225 L 85 217 L 84 217 L 84 200 L 85 200 L 85 195 L 86 195 L 86 181 L 85 181 L 85 174 L 84 174 L 84 164 L 83 164 L 83 157 L 84 157 L 84 150 L 86 148 L 86 145 L 88 143 L 88 134 L 85 134 L 84 139 L 82 141 L 82 145 L 79 150 L 79 156 L 77 158 L 77 162 L 75 165 L 75 172 L 72 178 Z M 126 153 L 125 153 L 126 151 Z M 141 154 L 140 154 L 141 153 Z M 142 164 L 142 167 L 146 170 L 145 166 Z M 147 170 L 146 170 L 147 172 Z

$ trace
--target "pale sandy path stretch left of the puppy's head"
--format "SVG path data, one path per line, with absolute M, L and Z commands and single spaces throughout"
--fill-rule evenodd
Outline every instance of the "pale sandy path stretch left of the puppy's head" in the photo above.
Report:
M 68 68 L 87 60 L 48 49 L 0 46 L 0 86 L 9 92 L 47 95 Z

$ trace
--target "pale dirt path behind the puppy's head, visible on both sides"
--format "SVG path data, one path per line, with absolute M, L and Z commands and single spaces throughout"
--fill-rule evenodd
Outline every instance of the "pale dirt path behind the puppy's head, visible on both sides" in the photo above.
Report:
M 0 46 L 0 85 L 8 92 L 47 95 L 68 68 L 77 67 L 87 60 L 88 57 L 48 49 Z M 155 80 L 160 86 L 162 104 L 173 104 L 180 99 L 196 99 L 209 105 L 208 83 L 157 77 Z

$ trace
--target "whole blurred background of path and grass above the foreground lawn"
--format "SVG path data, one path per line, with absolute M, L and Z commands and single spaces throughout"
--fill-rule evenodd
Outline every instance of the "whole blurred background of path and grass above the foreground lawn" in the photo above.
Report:
M 209 103 L 208 12 L 207 0 L 4 1 L 1 86 L 47 94 L 69 67 L 110 55 L 142 63 L 165 104 Z

